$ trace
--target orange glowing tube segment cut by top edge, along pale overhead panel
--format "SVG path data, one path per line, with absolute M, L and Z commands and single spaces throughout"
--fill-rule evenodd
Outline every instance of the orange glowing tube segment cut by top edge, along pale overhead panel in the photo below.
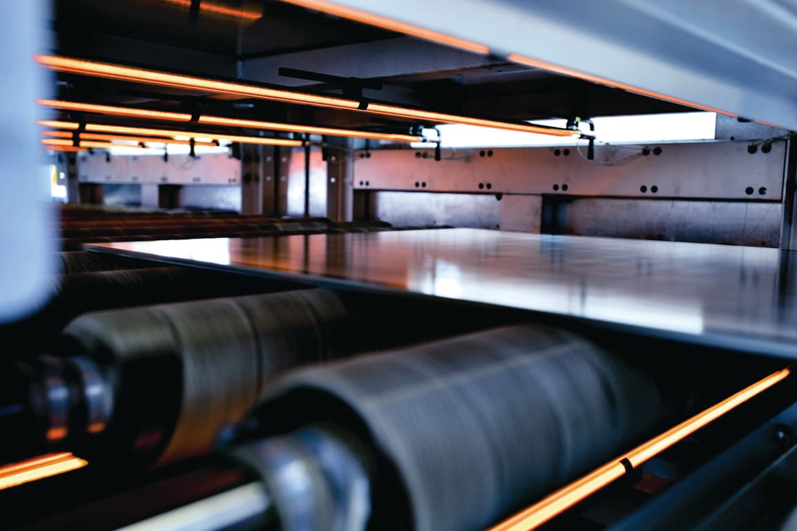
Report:
M 323 13 L 332 14 L 336 17 L 347 18 L 355 22 L 363 22 L 370 26 L 376 26 L 383 30 L 395 31 L 397 33 L 406 33 L 413 37 L 425 39 L 426 41 L 438 42 L 442 45 L 453 46 L 454 48 L 465 49 L 473 53 L 481 53 L 487 55 L 490 49 L 478 42 L 468 41 L 460 37 L 453 37 L 440 33 L 434 30 L 427 30 L 419 26 L 413 26 L 406 22 L 400 22 L 391 18 L 382 17 L 377 14 L 367 13 L 367 11 L 357 10 L 353 7 L 340 6 L 335 2 L 327 2 L 326 0 L 282 0 L 283 2 L 293 4 L 294 6 L 305 7 L 310 10 L 321 11 Z

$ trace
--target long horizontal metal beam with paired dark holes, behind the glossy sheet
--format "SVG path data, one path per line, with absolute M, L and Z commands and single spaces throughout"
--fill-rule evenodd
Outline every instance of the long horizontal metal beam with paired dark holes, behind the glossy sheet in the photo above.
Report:
M 608 161 L 639 154 L 642 147 L 596 147 L 593 161 L 574 147 L 444 150 L 440 161 L 426 149 L 359 151 L 355 190 L 779 202 L 785 144 L 771 144 L 766 153 L 750 153 L 750 145 L 650 144 L 649 155 L 622 165 Z M 586 146 L 581 149 L 586 154 Z

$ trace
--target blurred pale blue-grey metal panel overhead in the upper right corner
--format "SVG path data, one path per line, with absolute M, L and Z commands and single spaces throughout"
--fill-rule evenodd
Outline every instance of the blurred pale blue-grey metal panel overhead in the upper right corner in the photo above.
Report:
M 797 129 L 792 2 L 335 0 L 615 86 Z

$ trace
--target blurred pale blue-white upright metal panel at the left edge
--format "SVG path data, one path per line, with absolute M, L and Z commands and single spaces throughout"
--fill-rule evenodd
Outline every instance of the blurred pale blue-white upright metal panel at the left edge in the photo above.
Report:
M 34 100 L 49 93 L 49 76 L 31 61 L 49 45 L 45 24 L 49 2 L 29 0 L 3 6 L 0 33 L 0 323 L 35 312 L 52 295 L 53 218 L 49 208 L 47 157 L 40 151 Z

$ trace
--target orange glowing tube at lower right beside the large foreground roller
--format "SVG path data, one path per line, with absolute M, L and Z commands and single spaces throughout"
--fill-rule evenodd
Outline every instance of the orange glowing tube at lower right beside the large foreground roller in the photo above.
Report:
M 745 387 L 735 395 L 729 396 L 722 402 L 694 415 L 691 419 L 685 420 L 676 427 L 665 431 L 662 435 L 650 439 L 647 443 L 637 446 L 627 454 L 621 455 L 583 478 L 557 490 L 547 498 L 528 507 L 528 509 L 524 509 L 515 516 L 490 528 L 489 531 L 527 531 L 528 529 L 536 529 L 556 517 L 559 513 L 563 513 L 579 501 L 614 482 L 615 479 L 626 474 L 626 471 L 630 468 L 642 465 L 643 462 L 653 458 L 669 448 L 669 446 L 673 446 L 673 444 L 685 439 L 701 429 L 701 427 L 705 427 L 707 424 L 719 419 L 733 408 L 766 391 L 769 387 L 785 379 L 790 373 L 791 370 L 785 368 L 767 376 L 764 380 L 759 380 L 750 387 Z

